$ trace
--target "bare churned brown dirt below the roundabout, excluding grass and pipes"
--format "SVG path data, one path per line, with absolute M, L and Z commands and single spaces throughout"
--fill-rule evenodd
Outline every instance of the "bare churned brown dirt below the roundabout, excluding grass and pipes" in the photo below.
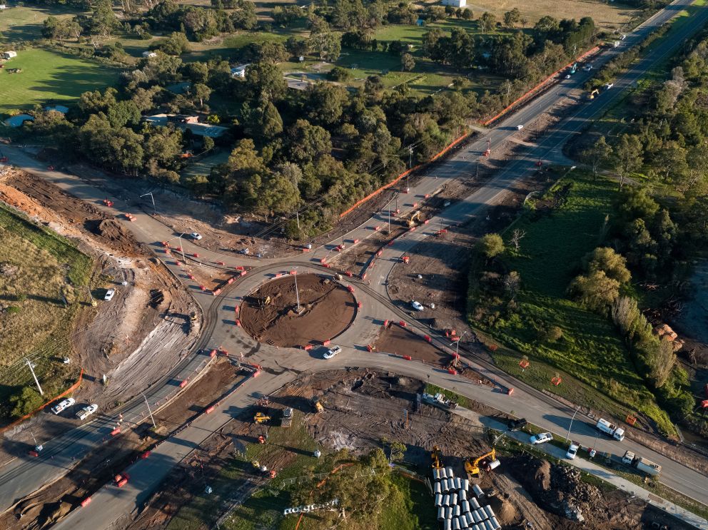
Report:
M 280 417 L 283 407 L 295 410 L 292 433 L 305 429 L 307 439 L 323 452 L 346 450 L 353 457 L 367 454 L 371 449 L 382 447 L 384 439 L 405 444 L 402 464 L 414 471 L 420 479 L 432 479 L 430 455 L 433 446 L 440 448 L 442 464 L 452 467 L 456 477 L 465 477 L 465 460 L 474 459 L 490 450 L 490 435 L 480 421 L 483 417 L 505 419 L 495 409 L 472 402 L 470 409 L 458 409 L 453 414 L 447 409 L 419 404 L 416 395 L 424 390 L 423 382 L 396 374 L 351 369 L 328 371 L 317 374 L 302 374 L 276 394 L 270 395 L 267 405 L 258 410 L 273 417 Z M 318 399 L 324 406 L 315 413 L 311 399 Z M 236 479 L 228 480 L 228 491 L 214 488 L 210 496 L 211 507 L 204 506 L 201 495 L 203 480 L 214 484 L 219 470 L 233 462 L 233 452 L 248 451 L 248 445 L 258 442 L 258 434 L 265 432 L 248 421 L 245 411 L 242 417 L 233 419 L 209 439 L 203 447 L 183 463 L 168 479 L 170 484 L 156 494 L 146 506 L 141 517 L 130 529 L 147 530 L 166 528 L 170 519 L 181 528 L 187 524 L 187 514 L 181 514 L 180 506 L 188 507 L 198 496 L 201 513 L 208 514 L 194 524 L 194 529 L 213 527 L 216 518 L 234 503 L 240 504 L 257 488 L 263 487 L 263 479 L 253 477 L 246 467 Z M 246 420 L 246 421 L 243 421 Z M 270 436 L 275 429 L 282 429 L 279 422 L 269 428 Z M 292 429 L 295 429 L 294 431 Z M 386 450 L 386 445 L 383 445 Z M 290 444 L 265 444 L 265 453 L 259 461 L 268 469 L 283 469 L 303 449 Z M 642 501 L 630 498 L 619 490 L 612 490 L 597 480 L 585 481 L 580 472 L 565 464 L 548 462 L 529 454 L 518 445 L 502 442 L 497 444 L 497 459 L 500 467 L 494 472 L 482 472 L 472 478 L 485 492 L 487 503 L 505 529 L 535 530 L 644 530 L 659 528 L 652 524 L 668 524 L 672 530 L 687 530 L 687 527 L 669 520 L 661 511 L 647 506 Z M 201 479 L 201 480 L 196 480 Z M 275 479 L 278 483 L 278 479 Z M 430 495 L 433 504 L 433 496 Z M 285 506 L 282 506 L 285 507 Z M 280 510 L 280 506 L 268 509 Z M 192 513 L 191 510 L 188 510 Z M 577 521 L 577 513 L 584 522 Z M 277 521 L 270 527 L 278 527 Z M 303 521 L 305 523 L 305 521 Z M 305 524 L 307 526 L 307 524 Z M 309 526 L 308 526 L 309 527 Z

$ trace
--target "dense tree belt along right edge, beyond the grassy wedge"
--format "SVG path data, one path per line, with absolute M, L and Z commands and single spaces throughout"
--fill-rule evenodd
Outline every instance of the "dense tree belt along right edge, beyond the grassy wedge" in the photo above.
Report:
M 680 315 L 672 300 L 692 297 L 687 280 L 692 264 L 705 259 L 707 243 L 708 127 L 702 103 L 708 95 L 707 50 L 703 31 L 661 73 L 642 80 L 592 128 L 585 143 L 574 146 L 588 163 L 594 160 L 595 170 L 617 175 L 622 193 L 632 198 L 618 210 L 624 226 L 617 248 L 639 287 L 640 307 L 674 321 Z M 628 190 L 637 187 L 636 193 Z M 652 318 L 654 325 L 660 323 Z M 691 330 L 685 331 L 690 336 Z M 708 381 L 694 371 L 699 360 L 693 352 L 678 355 L 684 362 L 667 374 L 657 395 L 675 421 L 705 436 L 694 395 Z

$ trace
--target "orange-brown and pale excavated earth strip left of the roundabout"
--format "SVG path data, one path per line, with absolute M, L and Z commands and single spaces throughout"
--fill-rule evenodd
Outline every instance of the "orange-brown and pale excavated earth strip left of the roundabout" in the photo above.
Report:
M 201 325 L 189 318 L 197 309 L 195 302 L 176 278 L 148 258 L 123 223 L 14 168 L 0 168 L 0 200 L 64 235 L 93 258 L 90 287 L 95 305 L 89 304 L 84 290 L 86 302 L 66 340 L 70 366 L 84 368 L 81 388 L 74 395 L 77 402 L 97 403 L 100 412 L 108 412 L 188 354 Z M 103 300 L 108 288 L 115 290 L 110 301 Z M 50 356 L 47 362 L 56 360 Z M 25 454 L 32 434 L 41 443 L 75 425 L 74 418 L 36 414 L 4 432 L 0 462 Z

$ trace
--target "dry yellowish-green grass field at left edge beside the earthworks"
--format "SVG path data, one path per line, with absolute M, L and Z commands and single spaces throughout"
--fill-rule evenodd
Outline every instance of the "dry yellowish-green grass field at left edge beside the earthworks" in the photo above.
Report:
M 45 397 L 76 380 L 61 362 L 71 325 L 88 299 L 91 258 L 67 240 L 0 207 L 0 419 L 19 417 L 42 399 L 22 359 L 31 355 Z

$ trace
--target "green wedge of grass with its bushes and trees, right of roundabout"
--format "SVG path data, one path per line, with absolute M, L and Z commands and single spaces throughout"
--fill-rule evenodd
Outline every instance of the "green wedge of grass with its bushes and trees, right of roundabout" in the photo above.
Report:
M 536 387 L 582 394 L 587 400 L 578 402 L 601 411 L 610 397 L 623 405 L 621 412 L 610 408 L 619 419 L 639 412 L 674 436 L 652 394 L 665 376 L 646 366 L 651 357 L 654 369 L 664 367 L 658 340 L 649 327 L 642 337 L 655 349 L 639 351 L 609 317 L 633 291 L 624 258 L 605 246 L 617 199 L 615 182 L 576 170 L 530 203 L 503 238 L 482 238 L 470 271 L 470 322 L 500 343 L 492 355 L 505 370 Z M 525 370 L 522 356 L 530 362 Z M 574 388 L 565 374 L 584 384 Z M 561 379 L 557 387 L 554 377 Z

